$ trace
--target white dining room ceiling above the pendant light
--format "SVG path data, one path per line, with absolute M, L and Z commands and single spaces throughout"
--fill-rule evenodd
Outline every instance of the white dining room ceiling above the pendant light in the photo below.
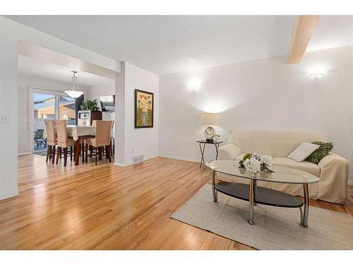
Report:
M 18 73 L 71 84 L 72 69 L 31 57 L 18 55 Z M 114 86 L 114 80 L 80 71 L 76 73 L 78 86 Z

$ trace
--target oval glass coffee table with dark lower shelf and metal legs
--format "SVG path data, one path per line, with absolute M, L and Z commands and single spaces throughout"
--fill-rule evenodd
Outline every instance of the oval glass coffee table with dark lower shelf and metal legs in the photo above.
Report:
M 320 181 L 319 177 L 311 175 L 301 170 L 295 170 L 289 167 L 273 165 L 273 172 L 252 173 L 244 168 L 238 168 L 239 160 L 216 160 L 206 163 L 206 166 L 212 170 L 212 190 L 213 201 L 217 202 L 217 192 L 227 194 L 237 199 L 249 201 L 249 224 L 253 225 L 253 206 L 254 204 L 265 204 L 269 206 L 299 208 L 300 225 L 308 225 L 309 216 L 309 184 Z M 240 184 L 231 182 L 215 183 L 215 172 L 227 174 L 232 177 L 241 177 L 249 179 L 250 184 Z M 276 182 L 289 184 L 303 184 L 304 203 L 297 196 L 278 192 L 274 189 L 258 187 L 257 182 Z M 304 213 L 302 206 L 304 205 Z

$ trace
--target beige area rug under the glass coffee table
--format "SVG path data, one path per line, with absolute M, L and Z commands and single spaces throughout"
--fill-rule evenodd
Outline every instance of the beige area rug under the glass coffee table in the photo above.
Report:
M 248 205 L 221 193 L 214 203 L 211 186 L 206 184 L 171 218 L 256 249 L 353 249 L 349 214 L 310 207 L 304 228 L 299 225 L 299 208 L 257 205 L 255 225 L 249 225 Z

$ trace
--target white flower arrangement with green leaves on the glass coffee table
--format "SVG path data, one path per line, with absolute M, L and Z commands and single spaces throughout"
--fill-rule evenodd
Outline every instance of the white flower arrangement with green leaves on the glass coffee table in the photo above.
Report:
M 243 159 L 239 161 L 239 167 L 245 167 L 249 172 L 257 173 L 263 171 L 270 171 L 273 165 L 273 159 L 270 155 L 259 155 L 258 153 L 247 153 Z

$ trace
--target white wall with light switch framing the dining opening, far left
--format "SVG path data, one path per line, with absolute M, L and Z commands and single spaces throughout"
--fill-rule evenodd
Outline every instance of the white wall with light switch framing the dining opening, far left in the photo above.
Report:
M 0 199 L 18 194 L 18 40 L 119 71 L 119 62 L 0 16 Z M 15 139 L 13 141 L 13 139 Z

